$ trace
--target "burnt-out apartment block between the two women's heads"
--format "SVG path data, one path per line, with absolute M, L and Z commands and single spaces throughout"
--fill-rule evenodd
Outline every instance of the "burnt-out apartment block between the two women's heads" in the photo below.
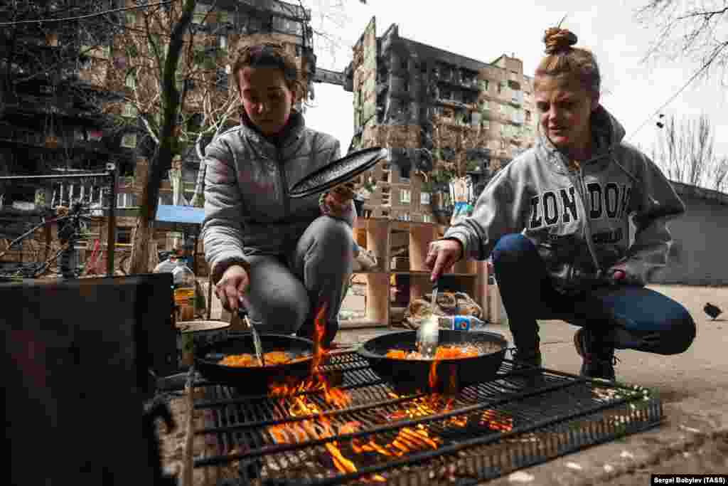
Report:
M 354 93 L 351 148 L 390 154 L 360 180 L 376 182 L 364 216 L 446 222 L 453 201 L 446 179 L 432 177 L 438 160 L 461 162 L 459 175 L 470 174 L 478 194 L 534 144 L 533 79 L 515 55 L 485 63 L 400 37 L 396 24 L 377 37 L 372 18 L 345 75 Z

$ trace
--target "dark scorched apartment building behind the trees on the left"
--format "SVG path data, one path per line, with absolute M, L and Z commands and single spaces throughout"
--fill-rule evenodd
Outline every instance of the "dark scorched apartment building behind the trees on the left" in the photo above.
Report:
M 26 3 L 27 12 L 0 7 L 0 20 L 95 12 L 91 6 L 83 7 L 90 12 L 80 12 L 82 7 L 74 0 L 48 2 L 42 12 L 33 2 Z M 161 117 L 155 101 L 161 83 L 149 66 L 154 66 L 154 52 L 166 52 L 172 25 L 145 19 L 145 15 L 159 15 L 164 20 L 166 9 L 147 11 L 135 0 L 113 0 L 110 4 L 115 9 L 127 9 L 93 17 L 98 18 L 97 23 L 29 23 L 4 32 L 0 46 L 0 66 L 4 68 L 0 79 L 0 173 L 104 171 L 107 163 L 114 163 L 119 175 L 116 243 L 124 246 L 131 243 L 143 180 L 156 146 L 149 125 L 159 123 Z M 185 93 L 180 116 L 184 130 L 194 133 L 200 119 L 217 116 L 215 103 L 237 96 L 230 71 L 234 52 L 242 44 L 282 44 L 296 57 L 310 84 L 316 58 L 309 22 L 310 12 L 300 4 L 199 0 L 185 38 L 194 52 L 189 59 L 183 56 L 177 73 L 177 88 Z M 226 126 L 238 122 L 234 111 Z M 196 187 L 200 189 L 198 175 L 204 171 L 199 170 L 197 151 L 187 144 L 180 152 L 181 157 L 162 181 L 162 205 L 189 204 Z M 108 197 L 104 196 L 108 188 L 92 184 L 56 181 L 42 188 L 37 184 L 0 184 L 0 208 L 15 206 L 42 212 L 80 199 L 96 208 L 100 226 L 106 219 L 103 208 L 108 208 Z M 15 229 L 1 233 L 1 238 L 17 237 L 23 233 L 23 225 L 14 224 Z M 98 234 L 102 243 L 106 240 L 105 230 L 92 233 Z M 169 246 L 168 235 L 155 235 L 155 239 L 159 248 Z

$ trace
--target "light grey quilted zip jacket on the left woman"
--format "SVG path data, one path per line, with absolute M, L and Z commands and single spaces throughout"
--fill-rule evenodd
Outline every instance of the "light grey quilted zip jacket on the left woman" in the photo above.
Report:
M 276 143 L 243 121 L 207 146 L 202 240 L 213 282 L 248 255 L 293 250 L 321 213 L 318 195 L 293 199 L 289 189 L 339 154 L 339 141 L 306 128 L 297 112 Z M 356 217 L 353 206 L 350 226 Z

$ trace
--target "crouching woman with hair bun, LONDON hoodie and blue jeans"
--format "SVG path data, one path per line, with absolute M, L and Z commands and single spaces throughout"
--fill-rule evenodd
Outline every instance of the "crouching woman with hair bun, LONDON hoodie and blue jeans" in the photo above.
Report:
M 438 278 L 461 258 L 490 255 L 520 366 L 541 366 L 537 318 L 582 326 L 582 375 L 614 379 L 614 349 L 689 348 L 687 310 L 644 284 L 666 264 L 665 223 L 685 208 L 670 182 L 599 103 L 600 74 L 577 36 L 550 28 L 534 77 L 537 146 L 490 181 L 472 216 L 432 243 Z M 636 226 L 630 244 L 629 219 Z

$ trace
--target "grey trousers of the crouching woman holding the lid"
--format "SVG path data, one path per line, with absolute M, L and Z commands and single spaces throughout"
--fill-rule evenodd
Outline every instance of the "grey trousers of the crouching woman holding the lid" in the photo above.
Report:
M 354 241 L 349 225 L 331 216 L 309 224 L 290 254 L 248 255 L 250 287 L 243 296 L 250 319 L 261 333 L 292 334 L 311 339 L 314 317 L 327 303 L 329 345 L 339 331 L 344 283 L 352 275 Z

